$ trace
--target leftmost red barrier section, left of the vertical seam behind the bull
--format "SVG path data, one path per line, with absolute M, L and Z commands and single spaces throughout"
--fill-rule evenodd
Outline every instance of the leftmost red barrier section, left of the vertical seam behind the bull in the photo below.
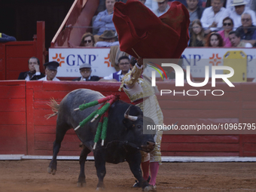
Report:
M 0 153 L 26 154 L 26 82 L 0 81 Z

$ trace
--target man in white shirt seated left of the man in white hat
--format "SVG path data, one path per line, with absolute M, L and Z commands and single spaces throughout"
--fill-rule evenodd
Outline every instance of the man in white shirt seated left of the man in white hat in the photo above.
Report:
M 206 34 L 221 29 L 221 18 L 228 17 L 226 8 L 223 8 L 223 3 L 224 0 L 212 0 L 212 6 L 203 11 L 200 21 Z

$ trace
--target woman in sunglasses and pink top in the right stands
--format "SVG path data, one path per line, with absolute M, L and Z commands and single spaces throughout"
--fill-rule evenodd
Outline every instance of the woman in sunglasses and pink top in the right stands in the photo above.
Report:
M 230 39 L 228 38 L 228 33 L 233 30 L 233 20 L 230 17 L 225 17 L 222 24 L 224 30 L 218 33 L 221 35 L 221 38 L 223 38 L 224 47 L 232 47 Z

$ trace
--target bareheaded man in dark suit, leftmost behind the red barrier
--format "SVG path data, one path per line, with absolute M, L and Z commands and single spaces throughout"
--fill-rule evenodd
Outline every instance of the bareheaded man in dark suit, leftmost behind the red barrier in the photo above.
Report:
M 44 78 L 44 74 L 40 72 L 39 69 L 39 59 L 35 56 L 32 56 L 29 59 L 29 72 L 21 72 L 19 75 L 18 80 L 26 80 L 26 81 L 32 81 L 32 80 L 38 80 L 40 78 Z

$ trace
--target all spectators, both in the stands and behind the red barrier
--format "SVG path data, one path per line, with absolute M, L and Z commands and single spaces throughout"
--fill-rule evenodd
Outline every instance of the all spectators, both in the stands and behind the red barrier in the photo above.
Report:
M 138 0 L 151 9 L 157 17 L 169 9 L 169 0 Z M 253 0 L 176 0 L 184 4 L 190 14 L 189 47 L 256 47 L 256 1 Z M 81 47 L 111 47 L 111 63 L 117 72 L 99 78 L 91 76 L 90 64 L 83 64 L 81 77 L 73 81 L 120 81 L 130 71 L 130 57 L 120 51 L 114 23 L 114 3 L 117 0 L 100 0 L 98 14 L 93 20 L 96 30 L 81 37 Z M 120 1 L 126 2 L 126 0 Z M 0 33 L 1 41 L 10 38 Z M 45 76 L 40 72 L 39 60 L 29 59 L 29 72 L 22 72 L 20 80 L 59 81 L 56 78 L 58 62 L 47 62 Z

